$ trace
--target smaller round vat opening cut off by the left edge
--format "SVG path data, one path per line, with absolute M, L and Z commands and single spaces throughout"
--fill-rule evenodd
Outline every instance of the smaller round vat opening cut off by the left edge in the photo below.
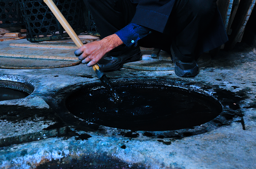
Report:
M 0 80 L 0 101 L 24 98 L 30 95 L 33 90 L 29 84 Z

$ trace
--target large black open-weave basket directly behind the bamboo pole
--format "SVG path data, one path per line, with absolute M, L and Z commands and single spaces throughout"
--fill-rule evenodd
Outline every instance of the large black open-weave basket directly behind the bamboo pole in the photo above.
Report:
M 85 31 L 81 0 L 55 0 L 60 12 L 78 34 Z M 27 29 L 27 40 L 38 42 L 68 37 L 43 0 L 19 0 Z

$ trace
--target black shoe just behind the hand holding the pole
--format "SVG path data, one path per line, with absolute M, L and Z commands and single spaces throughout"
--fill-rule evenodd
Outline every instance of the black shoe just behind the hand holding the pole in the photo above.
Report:
M 98 65 L 103 72 L 118 70 L 123 63 L 140 60 L 141 52 L 139 46 L 134 46 L 119 55 L 106 55 L 98 61 Z

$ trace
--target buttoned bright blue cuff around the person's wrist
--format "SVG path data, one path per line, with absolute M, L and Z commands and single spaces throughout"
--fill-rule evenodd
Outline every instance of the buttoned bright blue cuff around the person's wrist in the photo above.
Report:
M 140 40 L 139 35 L 133 29 L 134 26 L 132 24 L 128 24 L 115 34 L 124 42 L 126 46 L 131 46 Z

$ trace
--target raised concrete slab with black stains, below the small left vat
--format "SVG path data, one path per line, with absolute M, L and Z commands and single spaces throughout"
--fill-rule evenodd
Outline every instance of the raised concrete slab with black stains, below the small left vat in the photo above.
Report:
M 29 101 L 40 105 L 0 104 L 0 147 L 66 134 L 66 124 L 44 100 L 36 97 Z

